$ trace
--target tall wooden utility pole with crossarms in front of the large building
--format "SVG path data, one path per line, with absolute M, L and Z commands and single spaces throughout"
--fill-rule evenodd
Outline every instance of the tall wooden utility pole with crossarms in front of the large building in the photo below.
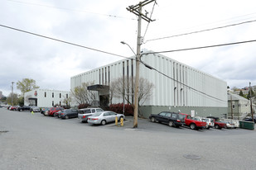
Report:
M 142 19 L 150 22 L 152 19 L 147 17 L 147 14 L 142 14 L 142 7 L 147 5 L 148 3 L 154 2 L 155 0 L 146 0 L 143 2 L 139 2 L 135 6 L 129 6 L 126 9 L 129 12 L 133 12 L 133 14 L 138 16 L 138 37 L 137 37 L 137 54 L 136 54 L 136 78 L 135 78 L 135 94 L 134 94 L 134 115 L 133 115 L 133 128 L 138 128 L 138 80 L 139 80 L 139 62 L 140 62 L 140 51 L 142 45 L 142 37 L 141 37 L 141 25 Z

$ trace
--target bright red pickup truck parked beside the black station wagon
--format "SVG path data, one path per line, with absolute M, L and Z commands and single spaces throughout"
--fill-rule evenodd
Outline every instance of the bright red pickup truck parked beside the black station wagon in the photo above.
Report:
M 180 113 L 184 116 L 185 125 L 189 126 L 191 130 L 203 129 L 206 126 L 206 122 L 197 120 L 196 118 L 191 117 L 191 115 Z

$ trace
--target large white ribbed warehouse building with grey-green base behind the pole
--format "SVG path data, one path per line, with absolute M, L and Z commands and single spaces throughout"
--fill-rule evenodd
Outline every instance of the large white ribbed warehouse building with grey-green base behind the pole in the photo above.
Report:
M 147 51 L 150 53 L 151 51 Z M 139 106 L 142 116 L 160 111 L 181 111 L 193 116 L 226 116 L 227 83 L 196 68 L 170 59 L 162 54 L 142 54 L 139 76 L 153 83 L 152 96 Z M 82 83 L 94 83 L 88 90 L 97 93 L 99 106 L 109 104 L 109 86 L 117 78 L 135 78 L 135 56 L 113 64 L 94 68 L 70 78 L 70 87 Z M 159 73 L 160 72 L 160 73 Z M 164 74 L 164 75 L 163 75 Z M 128 93 L 133 98 L 133 88 Z M 112 103 L 127 103 L 121 97 L 113 97 Z M 94 102 L 95 103 L 95 102 Z M 75 103 L 73 103 L 75 104 Z

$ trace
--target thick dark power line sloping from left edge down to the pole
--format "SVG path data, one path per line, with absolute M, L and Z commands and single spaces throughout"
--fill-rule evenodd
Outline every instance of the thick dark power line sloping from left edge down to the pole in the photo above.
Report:
M 36 33 L 32 33 L 32 32 L 29 32 L 29 31 L 23 31 L 23 30 L 20 30 L 20 29 L 17 29 L 17 28 L 13 28 L 11 26 L 3 26 L 3 25 L 0 25 L 0 26 L 8 28 L 8 29 L 11 29 L 11 30 L 14 30 L 14 31 L 21 31 L 21 32 L 24 32 L 24 33 L 27 33 L 27 34 L 30 34 L 30 35 L 36 35 L 36 36 L 40 36 L 42 38 L 46 38 L 46 39 L 50 39 L 50 40 L 56 40 L 56 41 L 59 41 L 61 43 L 65 43 L 65 44 L 68 44 L 68 45 L 74 45 L 74 46 L 78 46 L 78 47 L 85 48 L 85 49 L 88 49 L 88 50 L 94 50 L 94 51 L 97 51 L 97 52 L 100 52 L 100 53 L 111 54 L 111 55 L 122 57 L 122 58 L 125 58 L 125 59 L 130 59 L 130 58 L 125 57 L 123 55 L 113 54 L 113 53 L 109 53 L 109 52 L 106 52 L 106 51 L 103 51 L 103 50 L 97 50 L 97 49 L 90 48 L 90 47 L 87 47 L 87 46 L 84 46 L 84 45 L 78 45 L 78 44 L 75 44 L 75 43 L 70 43 L 70 42 L 65 41 L 65 40 L 59 40 L 59 39 L 51 38 L 49 36 L 39 35 L 39 34 L 36 34 Z

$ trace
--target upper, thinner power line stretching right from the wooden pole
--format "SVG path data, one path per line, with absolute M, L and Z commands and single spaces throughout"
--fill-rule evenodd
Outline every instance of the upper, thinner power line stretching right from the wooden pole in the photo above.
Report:
M 161 37 L 161 38 L 146 40 L 145 43 L 147 43 L 148 41 L 152 41 L 152 40 L 163 40 L 163 39 L 173 38 L 173 37 L 181 36 L 181 35 L 191 35 L 191 34 L 196 34 L 196 33 L 205 32 L 205 31 L 213 31 L 213 30 L 217 30 L 217 29 L 222 29 L 222 28 L 226 28 L 226 27 L 230 27 L 230 26 L 239 26 L 239 25 L 248 24 L 248 23 L 251 23 L 251 22 L 254 22 L 254 21 L 256 21 L 256 20 L 243 21 L 243 22 L 239 22 L 239 23 L 236 23 L 236 24 L 230 24 L 230 25 L 227 25 L 227 26 L 218 26 L 218 27 L 215 27 L 215 28 L 205 29 L 205 30 L 201 30 L 201 31 L 192 31 L 192 32 L 179 34 L 179 35 L 164 36 L 164 37 Z

